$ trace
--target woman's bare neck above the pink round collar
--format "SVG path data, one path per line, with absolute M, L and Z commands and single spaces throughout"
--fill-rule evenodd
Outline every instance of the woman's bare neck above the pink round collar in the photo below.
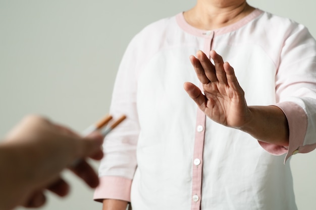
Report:
M 183 15 L 187 23 L 195 28 L 214 30 L 236 23 L 254 10 L 245 1 L 239 4 L 238 1 L 231 2 L 233 3 L 227 3 L 227 0 L 198 0 L 196 6 Z

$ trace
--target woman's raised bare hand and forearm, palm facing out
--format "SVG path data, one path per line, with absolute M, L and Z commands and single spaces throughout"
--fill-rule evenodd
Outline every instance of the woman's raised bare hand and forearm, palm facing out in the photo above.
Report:
M 233 67 L 212 50 L 215 65 L 198 51 L 190 56 L 204 94 L 192 83 L 184 89 L 210 119 L 249 133 L 262 142 L 288 146 L 289 128 L 283 111 L 277 106 L 247 106 Z

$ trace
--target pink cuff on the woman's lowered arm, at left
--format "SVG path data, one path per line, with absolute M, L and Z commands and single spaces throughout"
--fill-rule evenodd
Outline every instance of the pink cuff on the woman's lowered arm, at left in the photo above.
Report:
M 117 176 L 100 177 L 100 184 L 95 189 L 93 199 L 102 202 L 103 199 L 117 199 L 130 202 L 132 180 Z

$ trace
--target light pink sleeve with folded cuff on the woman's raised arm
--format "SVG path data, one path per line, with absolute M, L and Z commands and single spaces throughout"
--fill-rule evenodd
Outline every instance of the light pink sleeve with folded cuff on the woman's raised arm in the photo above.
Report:
M 259 142 L 274 155 L 308 153 L 316 148 L 316 42 L 308 30 L 293 24 L 280 54 L 276 106 L 289 124 L 289 147 Z

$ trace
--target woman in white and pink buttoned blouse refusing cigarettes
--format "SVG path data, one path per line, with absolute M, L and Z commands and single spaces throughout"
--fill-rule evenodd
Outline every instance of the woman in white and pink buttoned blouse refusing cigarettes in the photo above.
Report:
M 147 26 L 117 75 L 111 113 L 129 119 L 104 142 L 95 200 L 103 209 L 297 209 L 283 163 L 316 147 L 315 69 L 304 26 L 244 0 L 198 0 Z

